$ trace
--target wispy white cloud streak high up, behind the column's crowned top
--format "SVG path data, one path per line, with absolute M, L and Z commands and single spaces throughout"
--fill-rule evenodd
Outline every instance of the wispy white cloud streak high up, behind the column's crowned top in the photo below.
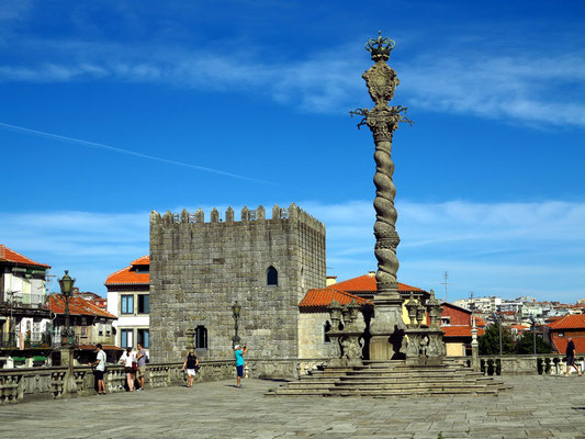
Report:
M 361 74 L 361 47 L 338 46 L 305 59 L 266 61 L 252 52 L 229 56 L 180 47 L 72 42 L 43 45 L 57 63 L 0 65 L 0 81 L 70 81 L 109 78 L 172 87 L 266 92 L 308 112 L 344 113 L 370 104 Z M 40 59 L 43 57 L 40 56 Z M 394 66 L 401 78 L 396 102 L 428 111 L 472 114 L 521 123 L 585 126 L 585 57 L 582 53 L 490 53 L 453 47 L 419 53 Z

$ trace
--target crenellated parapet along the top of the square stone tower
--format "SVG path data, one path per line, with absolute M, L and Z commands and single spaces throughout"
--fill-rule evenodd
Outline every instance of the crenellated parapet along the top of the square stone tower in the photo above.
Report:
M 232 206 L 227 207 L 223 217 L 220 214 L 220 211 L 216 207 L 210 213 L 209 221 L 205 222 L 205 213 L 200 207 L 196 212 L 189 212 L 187 209 L 183 209 L 180 213 L 172 213 L 167 211 L 164 215 L 157 211 L 150 212 L 150 226 L 175 226 L 177 224 L 192 224 L 194 226 L 201 224 L 254 224 L 254 223 L 286 223 L 286 222 L 299 222 L 308 226 L 310 228 L 315 229 L 316 232 L 325 233 L 325 225 L 316 219 L 313 215 L 310 215 L 296 204 L 292 203 L 288 207 L 280 207 L 278 204 L 271 209 L 271 217 L 267 217 L 266 209 L 262 205 L 259 205 L 256 209 L 248 209 L 244 206 L 239 214 L 239 221 L 235 219 L 235 212 Z

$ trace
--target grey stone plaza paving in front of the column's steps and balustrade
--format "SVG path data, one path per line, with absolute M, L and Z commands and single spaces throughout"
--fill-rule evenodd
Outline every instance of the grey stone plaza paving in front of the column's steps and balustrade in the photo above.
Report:
M 0 406 L 0 438 L 583 438 L 585 376 L 507 376 L 499 396 L 265 396 L 278 381 Z

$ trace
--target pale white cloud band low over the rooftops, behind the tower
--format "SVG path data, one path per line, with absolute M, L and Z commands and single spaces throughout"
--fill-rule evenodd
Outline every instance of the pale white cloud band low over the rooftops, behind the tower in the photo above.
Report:
M 327 227 L 329 274 L 341 280 L 375 270 L 371 202 L 299 205 Z M 243 206 L 233 207 L 239 218 Z M 268 216 L 271 207 L 265 205 Z M 202 209 L 209 218 L 212 206 Z M 224 215 L 226 206 L 217 209 Z M 403 202 L 397 210 L 402 282 L 441 292 L 448 271 L 451 300 L 470 291 L 561 301 L 585 296 L 585 203 Z M 147 212 L 0 214 L 0 243 L 52 264 L 54 273 L 71 269 L 80 288 L 99 293 L 108 274 L 148 254 Z

